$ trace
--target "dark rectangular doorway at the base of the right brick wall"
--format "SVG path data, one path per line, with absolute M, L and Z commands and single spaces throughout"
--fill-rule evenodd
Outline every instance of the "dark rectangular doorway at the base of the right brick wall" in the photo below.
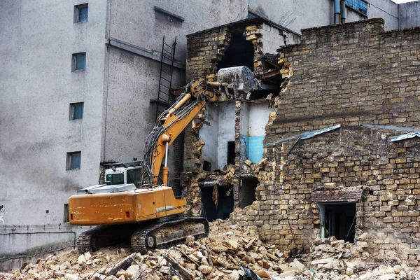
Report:
M 339 240 L 353 243 L 356 228 L 356 203 L 322 204 L 320 209 L 325 237 L 335 236 Z

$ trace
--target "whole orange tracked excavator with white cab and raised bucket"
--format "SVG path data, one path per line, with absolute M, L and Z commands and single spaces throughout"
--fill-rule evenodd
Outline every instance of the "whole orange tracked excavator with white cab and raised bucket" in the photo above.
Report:
M 189 83 L 158 117 L 142 161 L 111 164 L 105 172 L 106 184 L 78 190 L 69 197 L 72 225 L 98 225 L 78 237 L 78 250 L 96 251 L 130 241 L 134 251 L 147 253 L 188 235 L 207 236 L 207 219 L 183 216 L 186 199 L 175 197 L 168 185 L 168 148 L 207 102 L 227 101 L 231 94 L 259 88 L 260 83 L 246 66 L 221 69 L 216 82 L 200 78 Z

